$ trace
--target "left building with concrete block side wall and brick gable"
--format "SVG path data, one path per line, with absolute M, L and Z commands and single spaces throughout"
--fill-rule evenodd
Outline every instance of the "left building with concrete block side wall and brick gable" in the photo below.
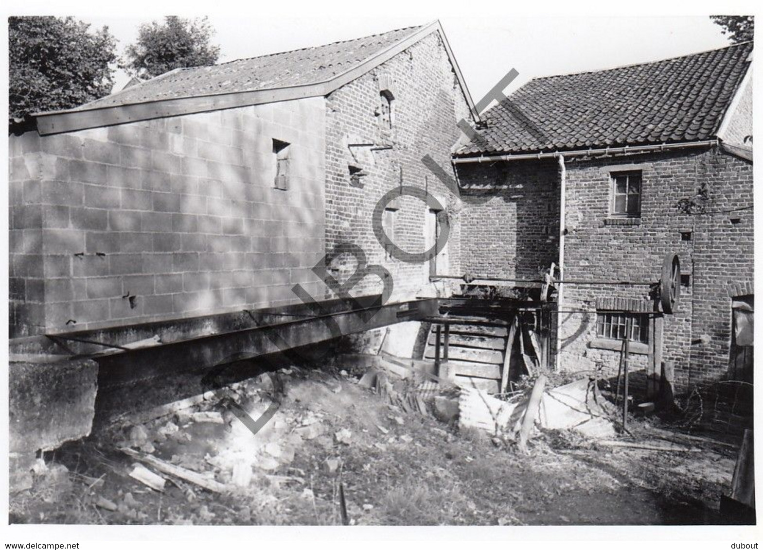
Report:
M 346 277 L 356 260 L 338 252 L 353 246 L 395 296 L 420 291 L 429 266 L 391 257 L 372 213 L 401 185 L 452 200 L 421 159 L 449 166 L 473 111 L 434 22 L 176 69 L 37 114 L 10 139 L 11 337 L 293 304 L 297 284 L 327 298 L 313 268 L 327 255 Z M 381 217 L 415 250 L 435 215 L 403 196 Z M 440 262 L 457 262 L 452 233 Z

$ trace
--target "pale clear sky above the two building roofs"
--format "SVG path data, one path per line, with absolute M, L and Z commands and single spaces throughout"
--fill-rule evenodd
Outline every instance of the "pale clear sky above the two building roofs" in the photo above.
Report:
M 183 16 L 182 12 L 175 13 Z M 158 18 L 82 17 L 94 27 L 108 25 L 118 39 L 119 52 L 137 37 L 141 23 Z M 303 18 L 251 15 L 209 15 L 214 43 L 221 45 L 220 61 L 259 56 L 378 34 L 395 28 L 426 24 L 429 14 L 380 17 L 311 14 Z M 462 70 L 472 98 L 478 101 L 510 69 L 519 76 L 510 92 L 536 76 L 548 76 L 642 63 L 724 47 L 729 40 L 707 15 L 512 16 L 445 14 L 439 18 Z M 116 89 L 127 82 L 119 72 Z

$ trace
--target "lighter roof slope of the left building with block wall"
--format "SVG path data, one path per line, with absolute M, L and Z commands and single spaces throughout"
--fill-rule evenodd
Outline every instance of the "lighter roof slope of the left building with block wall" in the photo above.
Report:
M 420 28 L 407 27 L 370 37 L 272 53 L 214 66 L 176 69 L 82 105 L 79 109 L 324 82 L 409 37 Z

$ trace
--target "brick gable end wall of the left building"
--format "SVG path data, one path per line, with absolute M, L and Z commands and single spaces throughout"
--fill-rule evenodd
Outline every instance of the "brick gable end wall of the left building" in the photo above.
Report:
M 381 82 L 381 84 L 380 84 Z M 380 86 L 388 85 L 394 95 L 392 128 L 380 123 Z M 379 199 L 401 185 L 426 189 L 449 212 L 451 233 L 438 268 L 460 272 L 459 202 L 422 162 L 430 155 L 453 175 L 452 146 L 459 140 L 456 126 L 461 118 L 470 121 L 468 105 L 456 80 L 439 34 L 430 34 L 327 98 L 326 141 L 326 241 L 327 251 L 340 252 L 343 243 L 359 246 L 369 265 L 385 266 L 394 284 L 393 298 L 410 297 L 429 284 L 428 263 L 405 263 L 391 258 L 374 236 L 372 212 Z M 373 143 L 389 149 L 350 147 Z M 367 175 L 362 188 L 353 187 L 349 166 Z M 398 198 L 391 240 L 407 252 L 423 252 L 428 207 L 417 198 Z M 392 205 L 391 205 L 392 206 Z M 447 256 L 444 259 L 443 256 Z M 330 265 L 334 276 L 345 281 L 355 262 L 342 255 Z M 353 295 L 381 291 L 378 277 L 369 275 L 351 291 Z M 327 294 L 328 295 L 328 294 Z

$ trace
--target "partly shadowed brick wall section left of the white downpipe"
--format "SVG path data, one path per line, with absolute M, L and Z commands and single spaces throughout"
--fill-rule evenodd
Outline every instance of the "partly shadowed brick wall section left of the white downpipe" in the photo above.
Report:
M 559 261 L 554 159 L 459 165 L 462 265 L 475 276 L 539 278 Z

